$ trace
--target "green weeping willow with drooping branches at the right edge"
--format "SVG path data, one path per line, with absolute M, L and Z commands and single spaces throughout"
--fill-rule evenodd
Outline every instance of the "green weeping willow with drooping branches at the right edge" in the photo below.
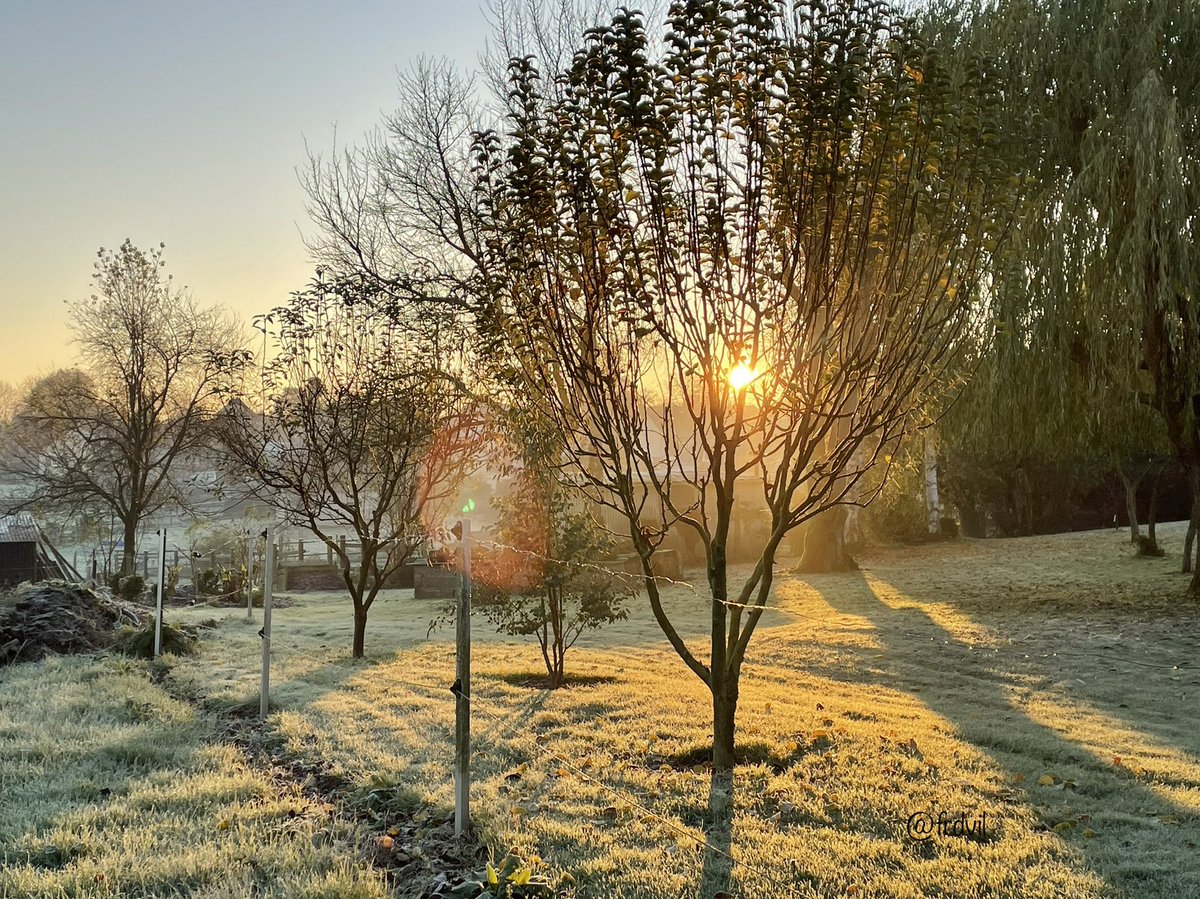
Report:
M 978 23 L 1032 118 L 1001 316 L 1045 361 L 1042 394 L 1156 409 L 1200 499 L 1200 7 L 1006 0 Z

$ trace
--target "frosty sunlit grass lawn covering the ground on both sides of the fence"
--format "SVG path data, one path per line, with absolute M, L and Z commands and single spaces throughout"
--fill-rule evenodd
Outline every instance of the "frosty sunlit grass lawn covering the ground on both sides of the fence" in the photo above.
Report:
M 476 622 L 475 820 L 588 899 L 1200 895 L 1200 610 L 1178 599 L 1182 526 L 1160 533 L 1165 559 L 1091 532 L 779 579 L 732 784 L 696 763 L 707 694 L 644 607 L 572 651 L 552 693 L 534 646 Z M 257 705 L 257 616 L 222 610 L 157 671 L 0 673 L 0 894 L 403 893 L 374 837 L 450 808 L 452 635 L 426 637 L 438 603 L 392 592 L 353 664 L 348 603 L 295 599 L 275 615 L 270 765 L 229 724 Z M 702 648 L 702 589 L 668 607 Z M 985 835 L 918 840 L 916 813 Z

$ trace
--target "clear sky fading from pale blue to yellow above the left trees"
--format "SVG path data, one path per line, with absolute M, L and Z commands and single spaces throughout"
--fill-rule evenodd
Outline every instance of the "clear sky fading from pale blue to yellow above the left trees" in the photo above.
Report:
M 70 365 L 100 247 L 166 242 L 245 322 L 305 284 L 296 167 L 418 56 L 474 66 L 486 0 L 0 0 L 0 380 Z

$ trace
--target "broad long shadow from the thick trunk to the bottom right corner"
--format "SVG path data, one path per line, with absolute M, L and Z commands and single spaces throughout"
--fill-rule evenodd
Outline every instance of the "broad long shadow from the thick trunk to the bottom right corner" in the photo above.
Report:
M 854 682 L 884 677 L 888 687 L 918 696 L 930 711 L 954 723 L 964 739 L 991 756 L 1010 778 L 1021 768 L 1027 773 L 1031 765 L 1060 771 L 1076 766 L 1078 792 L 1064 791 L 1062 803 L 1093 809 L 1093 820 L 1100 822 L 1093 827 L 1102 833 L 1094 840 L 1066 839 L 1122 894 L 1174 897 L 1181 876 L 1188 886 L 1200 887 L 1200 859 L 1194 849 L 1188 849 L 1195 834 L 1188 827 L 1162 827 L 1152 817 L 1190 817 L 1190 809 L 1174 805 L 1124 768 L 1114 766 L 1111 759 L 1099 759 L 1030 718 L 1014 702 L 1009 688 L 1016 679 L 1012 673 L 960 641 L 924 610 L 889 606 L 862 574 L 814 577 L 809 583 L 834 611 L 869 619 L 878 645 L 877 649 L 842 651 L 842 665 L 823 673 Z M 1054 819 L 1048 820 L 1046 809 L 1052 795 L 1039 790 L 1030 786 L 1026 798 L 1040 807 L 1040 816 L 1049 826 Z M 1126 798 L 1127 805 L 1141 811 L 1140 820 L 1128 815 L 1103 820 L 1109 796 Z M 1192 858 L 1193 867 L 1181 870 L 1180 861 L 1184 858 Z

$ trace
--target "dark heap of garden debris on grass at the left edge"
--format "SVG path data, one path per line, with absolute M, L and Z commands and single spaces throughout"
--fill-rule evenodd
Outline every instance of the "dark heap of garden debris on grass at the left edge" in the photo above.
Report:
M 145 617 L 144 610 L 80 585 L 25 583 L 0 601 L 0 665 L 106 649 L 120 628 L 142 628 Z

